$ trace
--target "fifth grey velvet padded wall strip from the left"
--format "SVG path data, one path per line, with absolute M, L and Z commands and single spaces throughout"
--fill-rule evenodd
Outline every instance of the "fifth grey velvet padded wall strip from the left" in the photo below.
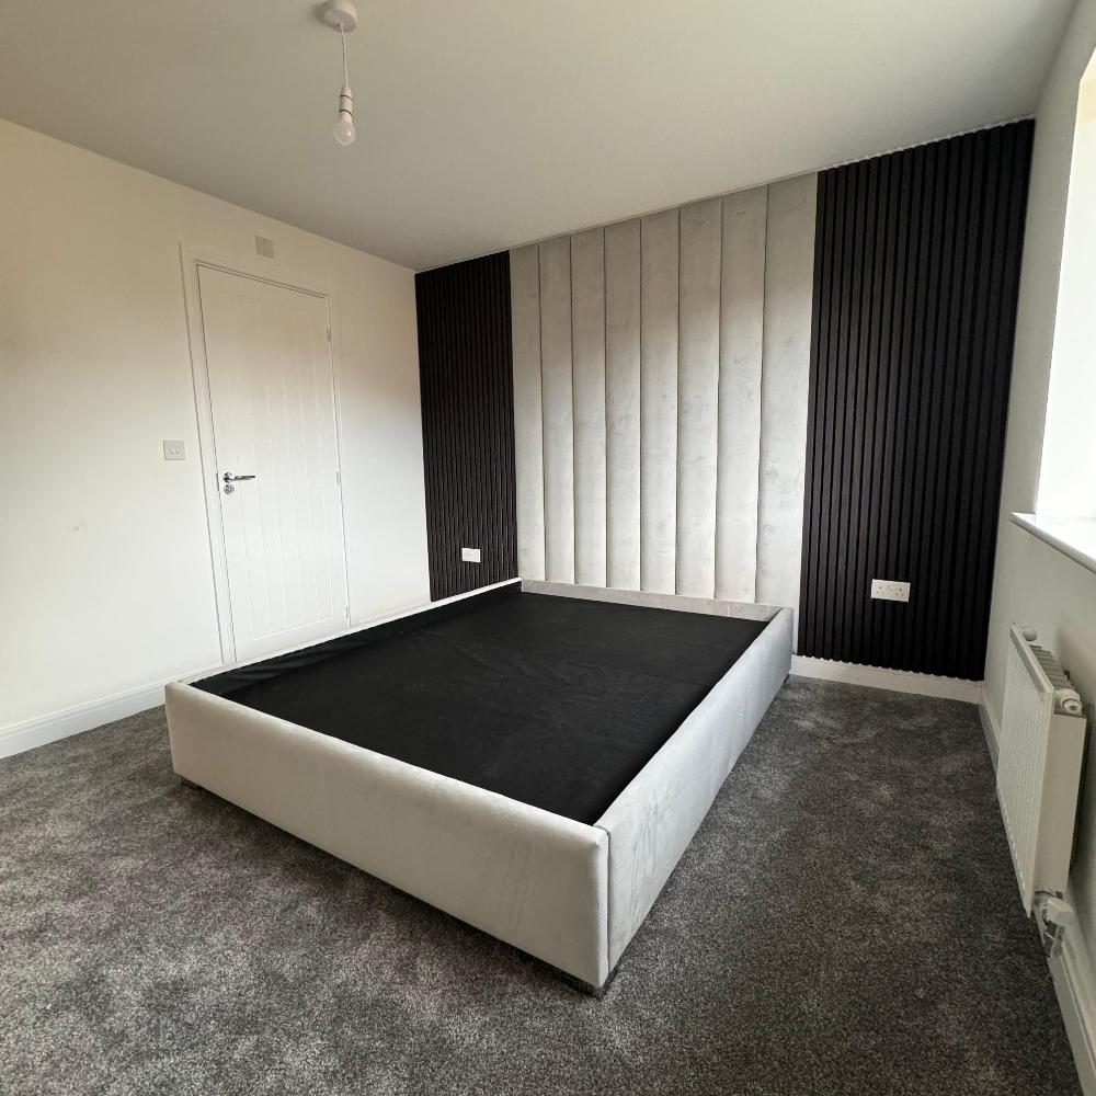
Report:
M 672 594 L 677 550 L 678 210 L 640 222 L 640 585 Z

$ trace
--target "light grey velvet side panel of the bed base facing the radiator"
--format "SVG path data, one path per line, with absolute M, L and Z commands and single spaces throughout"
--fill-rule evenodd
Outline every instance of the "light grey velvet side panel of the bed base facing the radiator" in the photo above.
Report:
M 609 969 L 665 886 L 791 669 L 780 609 L 597 821 L 609 835 Z

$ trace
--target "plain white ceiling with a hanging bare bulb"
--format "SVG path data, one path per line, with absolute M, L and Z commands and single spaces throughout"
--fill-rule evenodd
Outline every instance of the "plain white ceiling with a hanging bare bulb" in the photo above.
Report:
M 1032 111 L 1072 0 L 0 0 L 0 116 L 415 270 Z M 2 170 L 2 169 L 0 169 Z

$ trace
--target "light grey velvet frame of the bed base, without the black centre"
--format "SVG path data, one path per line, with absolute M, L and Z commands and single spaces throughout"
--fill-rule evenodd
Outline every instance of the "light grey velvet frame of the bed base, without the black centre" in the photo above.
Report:
M 597 989 L 791 664 L 787 608 L 523 582 L 543 594 L 768 620 L 593 825 L 205 693 L 168 686 L 175 772 Z

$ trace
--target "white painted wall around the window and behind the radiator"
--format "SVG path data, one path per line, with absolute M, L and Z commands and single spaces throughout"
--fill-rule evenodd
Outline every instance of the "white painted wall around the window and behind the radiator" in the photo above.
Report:
M 1066 196 L 1077 94 L 1096 49 L 1096 0 L 1081 0 L 1036 112 L 1027 233 L 1008 406 L 997 558 L 985 666 L 985 704 L 1000 721 L 1008 628 L 1031 625 L 1088 698 L 1096 698 L 1096 575 L 1008 521 L 1031 512 L 1039 493 L 1043 422 L 1050 388 Z M 1088 435 L 1091 436 L 1091 430 Z M 1072 475 L 1091 476 L 1077 467 Z M 1089 949 L 1096 946 L 1096 758 L 1089 757 L 1072 886 Z

